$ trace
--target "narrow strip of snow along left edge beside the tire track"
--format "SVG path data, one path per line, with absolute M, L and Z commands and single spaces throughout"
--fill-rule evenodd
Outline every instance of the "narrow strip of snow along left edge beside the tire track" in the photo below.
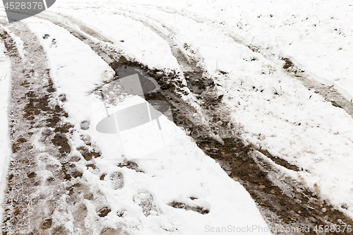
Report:
M 0 201 L 4 202 L 4 191 L 7 186 L 7 167 L 11 156 L 11 142 L 8 131 L 8 99 L 10 97 L 11 63 L 6 54 L 3 42 L 0 42 Z M 2 208 L 2 203 L 0 205 Z M 0 215 L 3 221 L 3 214 Z

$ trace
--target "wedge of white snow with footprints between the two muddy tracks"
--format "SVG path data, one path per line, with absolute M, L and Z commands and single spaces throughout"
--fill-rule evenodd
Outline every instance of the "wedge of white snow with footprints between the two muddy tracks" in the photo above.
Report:
M 268 231 L 243 186 L 230 179 L 220 165 L 206 156 L 172 121 L 160 120 L 162 133 L 153 122 L 121 131 L 120 136 L 97 132 L 95 126 L 106 116 L 106 111 L 100 95 L 89 95 L 89 91 L 112 78 L 112 69 L 63 28 L 37 18 L 24 22 L 37 34 L 47 52 L 58 94 L 66 94 L 64 109 L 68 112 L 68 121 L 78 130 L 82 121 L 90 121 L 87 131 L 74 133 L 76 138 L 71 145 L 79 146 L 82 142 L 79 135 L 88 134 L 102 152 L 102 158 L 95 159 L 94 164 L 107 175 L 104 181 L 95 170 L 86 169 L 84 165 L 77 167 L 90 186 L 104 195 L 114 212 L 104 217 L 105 226 L 114 228 L 116 224 L 123 224 L 124 229 L 133 234 L 209 234 L 213 230 L 208 231 L 208 227 L 228 226 L 241 229 L 256 226 Z M 49 38 L 43 39 L 46 34 Z M 142 98 L 128 95 L 116 105 L 109 104 L 109 114 L 142 102 Z M 169 140 L 166 137 L 157 147 L 157 139 L 162 135 Z M 143 172 L 118 167 L 116 164 L 124 159 L 138 163 Z M 167 205 L 173 201 L 204 207 L 210 212 L 201 215 Z M 97 217 L 96 205 L 89 200 L 85 200 L 85 205 L 88 217 Z M 124 217 L 116 217 L 118 211 L 125 211 Z M 251 234 L 270 232 L 253 231 Z

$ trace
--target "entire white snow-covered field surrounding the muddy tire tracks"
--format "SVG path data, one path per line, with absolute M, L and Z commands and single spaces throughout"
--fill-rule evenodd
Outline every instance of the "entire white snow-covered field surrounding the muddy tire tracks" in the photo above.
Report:
M 56 1 L 42 16 L 59 21 L 73 18 L 89 25 L 114 42 L 114 49 L 150 69 L 183 71 L 171 48 L 180 49 L 215 81 L 217 95 L 223 97 L 220 112 L 229 116 L 244 143 L 297 166 L 300 171 L 277 169 L 353 218 L 352 116 L 307 88 L 296 77 L 297 72 L 285 71 L 282 60 L 290 59 L 313 83 L 335 88 L 347 103 L 352 102 L 352 11 L 352 1 L 348 0 L 100 0 Z M 0 16 L 4 15 L 0 8 Z M 105 227 L 123 224 L 126 234 L 213 234 L 206 228 L 228 225 L 268 229 L 245 188 L 229 178 L 172 121 L 162 120 L 168 130 L 162 135 L 172 138 L 161 142 L 164 147 L 156 152 L 147 150 L 152 141 L 131 144 L 135 138 L 160 138 L 156 123 L 126 131 L 120 137 L 95 131 L 92 126 L 104 118 L 105 110 L 100 96 L 90 91 L 112 80 L 114 71 L 87 44 L 49 20 L 32 17 L 23 23 L 44 47 L 58 94 L 66 94 L 67 101 L 61 103 L 68 113 L 66 121 L 76 129 L 82 121 L 91 123 L 88 130 L 73 134 L 71 145 L 82 145 L 80 135 L 89 135 L 102 151 L 95 166 L 107 175 L 124 175 L 123 186 L 116 188 L 114 182 L 100 180 L 95 169 L 81 166 L 83 177 L 102 192 L 110 209 L 126 211 L 124 217 L 113 213 L 104 217 Z M 4 50 L 0 41 L 2 166 L 8 164 L 11 151 L 4 102 L 8 100 L 11 74 Z M 184 100 L 196 107 L 204 120 L 201 101 L 193 95 L 184 96 Z M 129 95 L 111 105 L 109 112 L 143 102 Z M 37 148 L 44 146 L 38 143 Z M 143 172 L 116 166 L 124 160 L 138 162 Z M 276 167 L 270 159 L 268 162 Z M 2 167 L 1 192 L 6 186 L 6 172 Z M 40 174 L 46 176 L 48 172 Z M 150 198 L 152 209 L 146 216 L 141 204 Z M 200 207 L 208 213 L 167 205 L 172 202 Z M 97 208 L 89 200 L 85 205 L 88 217 L 94 220 Z M 77 232 L 73 224 L 70 226 L 71 233 Z

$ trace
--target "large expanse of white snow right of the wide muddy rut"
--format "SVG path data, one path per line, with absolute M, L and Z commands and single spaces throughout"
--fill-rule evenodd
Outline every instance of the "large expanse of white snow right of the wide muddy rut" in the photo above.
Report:
M 284 73 L 284 62 L 280 60 L 291 59 L 309 79 L 334 85 L 351 100 L 350 1 L 220 0 L 176 4 L 156 0 L 145 4 L 135 0 L 94 4 L 92 8 L 90 1 L 63 1 L 52 11 L 77 17 L 115 42 L 123 39 L 126 44 L 138 44 L 127 50 L 128 55 L 152 68 L 175 66 L 166 64 L 158 33 L 150 31 L 149 25 L 168 35 L 179 48 L 186 45 L 189 49 L 184 52 L 199 59 L 199 65 L 220 85 L 219 95 L 225 95 L 224 112 L 230 112 L 241 138 L 303 169 L 291 176 L 316 191 L 319 198 L 337 207 L 348 205 L 345 212 L 353 217 L 352 116 L 333 107 L 315 90 L 305 88 L 294 74 Z M 132 30 L 119 33 L 116 29 L 124 28 L 121 25 L 133 25 L 133 30 L 143 35 Z M 252 52 L 248 45 L 257 47 L 258 52 Z M 157 56 L 146 59 L 146 49 Z M 169 58 L 170 52 L 165 52 Z

